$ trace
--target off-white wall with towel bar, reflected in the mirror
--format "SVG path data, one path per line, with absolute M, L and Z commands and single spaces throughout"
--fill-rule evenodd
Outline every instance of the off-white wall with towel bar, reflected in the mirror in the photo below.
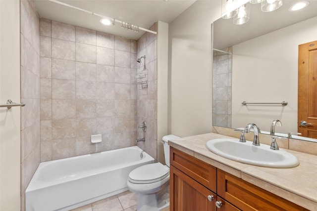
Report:
M 233 46 L 232 127 L 254 122 L 277 132 L 297 131 L 298 45 L 317 40 L 317 17 Z M 282 102 L 287 106 L 242 106 L 241 102 Z

